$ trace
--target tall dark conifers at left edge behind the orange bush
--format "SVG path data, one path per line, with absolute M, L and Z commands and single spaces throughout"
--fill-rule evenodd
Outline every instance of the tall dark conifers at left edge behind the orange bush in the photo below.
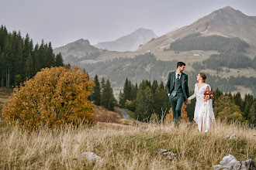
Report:
M 27 78 L 32 78 L 42 68 L 64 66 L 61 53 L 56 56 L 51 43 L 41 42 L 33 46 L 29 34 L 8 32 L 0 28 L 0 84 L 1 87 L 19 86 Z

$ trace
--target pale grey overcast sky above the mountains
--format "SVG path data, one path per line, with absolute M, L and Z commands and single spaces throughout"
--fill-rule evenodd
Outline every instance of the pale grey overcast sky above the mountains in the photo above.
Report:
M 255 0 L 0 0 L 0 25 L 29 34 L 54 48 L 78 39 L 92 45 L 126 36 L 139 28 L 162 36 L 231 6 L 256 16 Z

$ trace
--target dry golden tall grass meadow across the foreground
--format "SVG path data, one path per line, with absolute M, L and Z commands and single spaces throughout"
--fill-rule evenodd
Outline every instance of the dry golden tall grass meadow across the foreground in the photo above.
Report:
M 225 138 L 237 134 L 237 140 Z M 256 130 L 240 124 L 217 122 L 200 134 L 195 124 L 105 124 L 92 128 L 41 129 L 29 133 L 18 127 L 0 128 L 1 169 L 212 169 L 227 154 L 239 161 L 256 160 Z M 158 148 L 173 151 L 171 162 Z M 92 151 L 102 159 L 79 158 Z M 195 166 L 192 162 L 199 162 Z

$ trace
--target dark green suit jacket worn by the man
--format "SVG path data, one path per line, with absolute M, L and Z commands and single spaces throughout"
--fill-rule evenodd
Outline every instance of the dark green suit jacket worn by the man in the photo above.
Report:
M 188 75 L 185 73 L 182 73 L 181 79 L 182 79 L 182 91 L 184 93 L 185 99 L 187 99 L 188 97 L 190 97 L 189 86 L 188 86 Z M 166 90 L 167 90 L 167 93 L 170 93 L 170 96 L 171 96 L 171 92 L 175 90 L 175 80 L 176 80 L 176 71 L 170 72 L 168 75 L 167 83 L 166 83 Z

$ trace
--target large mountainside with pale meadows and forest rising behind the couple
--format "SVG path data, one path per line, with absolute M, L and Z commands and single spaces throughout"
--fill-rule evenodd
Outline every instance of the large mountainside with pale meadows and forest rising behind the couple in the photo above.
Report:
M 190 39 L 190 44 L 188 44 L 188 39 L 184 38 L 195 33 L 199 34 L 198 38 Z M 188 46 L 189 48 L 178 48 L 178 52 L 175 49 L 170 49 L 171 43 L 178 39 L 183 39 L 186 48 Z M 227 92 L 243 89 L 241 91 L 243 95 L 244 93 L 254 93 L 255 96 L 254 85 L 243 83 L 254 81 L 256 78 L 255 39 L 256 17 L 244 15 L 231 7 L 225 7 L 202 17 L 189 26 L 152 39 L 136 51 L 116 52 L 98 49 L 101 53 L 95 58 L 73 59 L 72 62 L 85 68 L 92 77 L 98 74 L 99 77 L 105 76 L 106 79 L 111 80 L 116 97 L 118 97 L 119 90 L 123 88 L 126 77 L 133 83 L 140 83 L 143 79 L 162 80 L 165 83 L 168 72 L 175 69 L 173 63 L 177 60 L 185 61 L 187 64 L 185 73 L 191 77 L 189 80 L 191 89 L 196 82 L 193 77 L 201 71 L 207 73 L 207 82 L 214 89 L 218 87 Z M 204 46 L 206 42 L 208 48 Z M 190 48 L 194 45 L 197 47 Z M 227 51 L 228 53 L 226 53 Z M 79 50 L 77 53 L 80 53 Z M 147 53 L 154 53 L 156 60 L 146 57 L 140 63 L 141 59 L 138 59 L 137 56 L 147 56 Z M 218 62 L 215 63 L 215 60 Z M 168 66 L 161 64 L 162 62 Z M 197 62 L 202 66 L 193 66 Z M 199 70 L 199 68 L 201 69 Z M 245 80 L 242 76 L 246 76 Z M 230 77 L 236 79 L 230 79 Z M 217 82 L 216 78 L 220 81 Z M 227 82 L 231 80 L 237 82 L 233 81 L 230 85 Z

